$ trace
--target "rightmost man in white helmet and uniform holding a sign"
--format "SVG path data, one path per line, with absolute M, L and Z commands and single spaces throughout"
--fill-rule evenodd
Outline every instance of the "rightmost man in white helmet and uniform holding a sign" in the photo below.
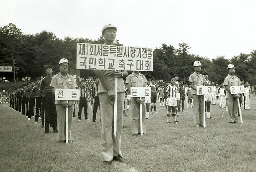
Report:
M 231 94 L 230 86 L 241 85 L 240 79 L 234 75 L 236 69 L 233 64 L 228 65 L 228 76 L 224 79 L 224 86 L 226 88 L 226 98 L 228 103 L 228 122 L 237 122 L 237 111 L 238 103 L 237 99 L 240 97 L 239 94 Z

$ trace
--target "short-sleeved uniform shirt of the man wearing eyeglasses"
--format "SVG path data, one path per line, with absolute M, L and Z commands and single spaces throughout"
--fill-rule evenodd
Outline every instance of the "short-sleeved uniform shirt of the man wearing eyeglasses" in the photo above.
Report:
M 58 89 L 76 89 L 76 81 L 72 75 L 67 74 L 63 77 L 60 72 L 52 76 L 52 81 L 50 87 Z M 59 100 L 55 100 L 54 104 L 60 104 Z M 75 104 L 74 101 L 71 101 L 71 104 Z

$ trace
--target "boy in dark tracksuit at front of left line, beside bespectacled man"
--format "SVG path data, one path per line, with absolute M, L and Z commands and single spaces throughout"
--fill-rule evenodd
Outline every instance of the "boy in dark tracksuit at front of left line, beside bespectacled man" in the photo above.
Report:
M 52 88 L 50 87 L 50 83 L 52 81 L 52 71 L 53 67 L 51 65 L 47 65 L 44 67 L 46 76 L 42 79 L 40 84 L 40 91 L 43 96 L 43 106 L 44 114 L 42 116 L 42 125 L 44 127 L 44 133 L 49 133 L 49 125 L 52 126 L 53 133 L 57 133 L 57 113 L 55 107 L 55 97 L 52 92 Z

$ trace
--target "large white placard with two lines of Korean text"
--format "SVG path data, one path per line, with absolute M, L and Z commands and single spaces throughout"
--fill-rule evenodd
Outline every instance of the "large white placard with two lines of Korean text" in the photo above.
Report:
M 153 49 L 77 43 L 76 68 L 153 71 Z

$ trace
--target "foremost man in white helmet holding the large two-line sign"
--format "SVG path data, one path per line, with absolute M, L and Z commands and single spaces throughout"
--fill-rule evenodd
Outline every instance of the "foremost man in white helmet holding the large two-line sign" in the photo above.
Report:
M 116 27 L 107 24 L 104 25 L 101 32 L 105 39 L 105 45 L 113 45 L 116 39 Z M 119 70 L 96 70 L 96 75 L 100 79 L 98 96 L 100 100 L 101 114 L 101 153 L 104 157 L 104 163 L 110 165 L 112 160 L 124 162 L 121 153 L 121 133 L 123 127 L 123 107 L 124 107 L 124 80 L 127 71 Z M 117 100 L 115 100 L 115 77 L 118 78 L 117 84 Z M 116 116 L 116 137 L 113 134 L 113 112 L 114 102 L 117 101 Z

